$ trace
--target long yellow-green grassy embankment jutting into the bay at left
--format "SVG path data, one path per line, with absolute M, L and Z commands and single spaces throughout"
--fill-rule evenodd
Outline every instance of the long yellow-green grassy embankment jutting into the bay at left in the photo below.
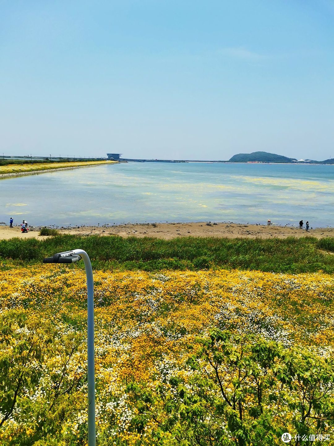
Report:
M 81 167 L 87 165 L 98 165 L 98 164 L 107 164 L 114 163 L 117 161 L 30 161 L 26 163 L 22 163 L 22 161 L 17 162 L 14 160 L 10 161 L 10 164 L 5 161 L 0 161 L 0 174 L 3 173 L 24 173 L 24 172 L 37 172 L 41 170 L 49 170 L 49 169 L 63 169 L 65 167 Z

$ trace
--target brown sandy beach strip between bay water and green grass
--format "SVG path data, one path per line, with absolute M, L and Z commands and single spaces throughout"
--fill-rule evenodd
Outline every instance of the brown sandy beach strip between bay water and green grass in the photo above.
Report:
M 305 228 L 305 227 L 304 227 Z M 173 239 L 175 237 L 245 237 L 269 239 L 276 237 L 283 239 L 286 237 L 312 236 L 317 238 L 334 237 L 334 228 L 315 228 L 308 232 L 299 229 L 297 226 L 275 226 L 260 224 L 236 224 L 236 223 L 211 223 L 207 226 L 202 223 L 134 223 L 115 226 L 81 226 L 59 229 L 61 234 L 77 235 L 119 235 L 121 237 L 156 237 L 159 239 Z M 43 240 L 46 236 L 39 236 L 39 227 L 34 227 L 27 234 L 22 234 L 20 226 L 0 226 L 0 239 L 10 239 L 12 237 L 28 238 L 35 237 Z

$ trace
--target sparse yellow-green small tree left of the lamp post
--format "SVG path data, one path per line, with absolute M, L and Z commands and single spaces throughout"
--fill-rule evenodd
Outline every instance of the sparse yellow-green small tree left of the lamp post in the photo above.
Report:
M 0 314 L 0 435 L 6 445 L 57 438 L 82 401 L 82 372 L 73 367 L 81 338 L 19 310 Z

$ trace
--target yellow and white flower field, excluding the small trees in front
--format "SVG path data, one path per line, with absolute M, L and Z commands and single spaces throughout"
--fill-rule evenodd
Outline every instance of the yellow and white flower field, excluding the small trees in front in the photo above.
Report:
M 4 320 L 7 314 L 16 311 L 20 317 L 35 318 L 36 324 L 38 321 L 42 327 L 50 324 L 48 330 L 55 330 L 54 342 L 59 341 L 59 350 L 57 355 L 47 358 L 45 368 L 49 375 L 66 370 L 69 380 L 82 379 L 71 403 L 72 413 L 61 421 L 62 440 L 58 439 L 57 444 L 85 444 L 84 271 L 58 265 L 10 269 L 0 273 L 0 283 L 0 314 Z M 286 348 L 304 346 L 314 352 L 314 357 L 327 358 L 333 354 L 334 319 L 330 301 L 334 278 L 323 273 L 95 271 L 94 285 L 100 444 L 123 444 L 122 441 L 146 444 L 145 435 L 153 429 L 154 421 L 147 424 L 145 434 L 129 430 L 137 412 L 126 399 L 126 385 L 137 382 L 153 388 L 174 375 L 187 375 L 185 360 L 189 348 L 198 344 L 197 336 L 208 335 L 212 327 L 236 335 L 257 333 Z M 13 322 L 13 327 L 8 341 L 2 344 L 2 358 L 9 355 L 8 349 L 14 348 L 14 335 L 24 330 L 24 324 L 19 327 Z M 65 368 L 62 355 L 65 358 L 66 349 L 61 348 L 67 343 L 68 350 L 74 338 L 77 347 Z M 30 402 L 41 404 L 41 389 L 29 398 Z M 19 432 L 22 434 L 24 429 L 24 438 L 33 435 L 34 428 L 26 424 L 22 411 L 14 410 L 0 427 L 2 444 Z M 168 435 L 166 445 L 174 444 L 167 439 Z

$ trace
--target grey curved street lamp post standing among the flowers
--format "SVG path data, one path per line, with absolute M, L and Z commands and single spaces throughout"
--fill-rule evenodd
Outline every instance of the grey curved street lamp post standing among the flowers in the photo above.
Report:
M 47 257 L 43 263 L 73 263 L 83 260 L 87 279 L 87 362 L 88 362 L 88 446 L 95 446 L 95 378 L 94 378 L 94 283 L 90 258 L 86 251 L 58 252 L 53 257 Z

